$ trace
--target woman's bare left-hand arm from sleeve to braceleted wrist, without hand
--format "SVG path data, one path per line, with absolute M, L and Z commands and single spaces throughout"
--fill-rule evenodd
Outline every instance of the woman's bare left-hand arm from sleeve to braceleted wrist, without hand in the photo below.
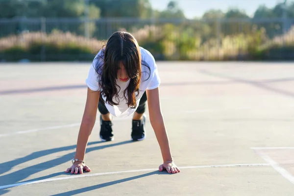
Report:
M 74 158 L 79 160 L 84 160 L 85 157 L 86 146 L 96 121 L 99 97 L 100 91 L 92 91 L 88 88 L 87 101 L 78 133 L 76 152 L 74 156 Z

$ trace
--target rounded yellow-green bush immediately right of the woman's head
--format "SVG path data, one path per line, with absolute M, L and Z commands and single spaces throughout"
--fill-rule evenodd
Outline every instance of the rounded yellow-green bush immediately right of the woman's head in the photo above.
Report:
M 130 33 L 140 46 L 160 60 L 190 60 L 200 40 L 192 28 L 172 24 L 146 25 L 141 29 L 132 29 Z

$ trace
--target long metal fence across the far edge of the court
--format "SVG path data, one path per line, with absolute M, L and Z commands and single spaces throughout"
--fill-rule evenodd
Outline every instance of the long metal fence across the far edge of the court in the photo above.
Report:
M 91 60 L 115 31 L 158 60 L 292 59 L 294 19 L 1 19 L 0 60 Z M 104 42 L 103 42 L 104 41 Z

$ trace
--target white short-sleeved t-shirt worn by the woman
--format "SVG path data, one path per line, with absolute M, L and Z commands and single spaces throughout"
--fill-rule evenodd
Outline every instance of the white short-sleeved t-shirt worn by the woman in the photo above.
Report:
M 140 99 L 142 98 L 145 91 L 155 89 L 160 84 L 160 77 L 158 75 L 157 65 L 155 63 L 154 57 L 147 49 L 140 47 L 140 50 L 141 50 L 141 55 L 142 55 L 142 61 L 145 61 L 147 63 L 147 65 L 150 68 L 150 71 L 145 65 L 142 65 L 142 77 L 141 77 L 141 83 L 140 83 L 140 87 L 139 87 L 140 92 L 139 92 L 139 96 L 136 99 L 137 107 L 134 109 L 129 108 L 127 106 L 127 101 L 124 99 L 124 96 L 123 96 L 123 91 L 127 88 L 128 84 L 130 82 L 130 79 L 127 82 L 121 82 L 118 79 L 116 81 L 117 85 L 119 85 L 121 87 L 121 90 L 118 93 L 119 100 L 116 100 L 115 97 L 113 99 L 114 99 L 114 102 L 119 103 L 119 105 L 111 106 L 107 102 L 105 103 L 105 106 L 108 109 L 108 111 L 110 112 L 110 114 L 115 117 L 127 117 L 127 116 L 132 115 L 136 111 L 136 109 L 138 108 Z M 98 55 L 101 55 L 101 51 L 97 54 L 97 56 Z M 96 69 L 95 69 L 97 61 L 98 60 L 95 58 L 91 67 L 90 67 L 88 78 L 86 79 L 86 84 L 92 91 L 100 91 L 101 90 L 99 88 L 98 73 L 96 72 Z M 150 76 L 149 76 L 149 74 L 150 74 Z M 102 96 L 102 98 L 104 100 L 106 100 L 106 98 L 104 96 Z M 126 95 L 126 98 L 127 98 L 127 95 Z

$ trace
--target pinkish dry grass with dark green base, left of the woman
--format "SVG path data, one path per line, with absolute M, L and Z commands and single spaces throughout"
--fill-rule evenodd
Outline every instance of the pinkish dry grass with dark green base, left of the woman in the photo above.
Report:
M 25 33 L 0 39 L 0 59 L 18 61 L 92 61 L 103 41 L 53 31 Z

